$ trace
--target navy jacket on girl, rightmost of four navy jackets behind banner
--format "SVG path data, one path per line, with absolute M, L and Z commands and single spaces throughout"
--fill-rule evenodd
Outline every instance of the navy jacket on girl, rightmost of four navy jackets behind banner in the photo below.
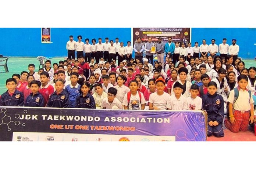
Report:
M 96 109 L 94 98 L 89 93 L 85 97 L 78 95 L 75 103 L 75 108 Z

